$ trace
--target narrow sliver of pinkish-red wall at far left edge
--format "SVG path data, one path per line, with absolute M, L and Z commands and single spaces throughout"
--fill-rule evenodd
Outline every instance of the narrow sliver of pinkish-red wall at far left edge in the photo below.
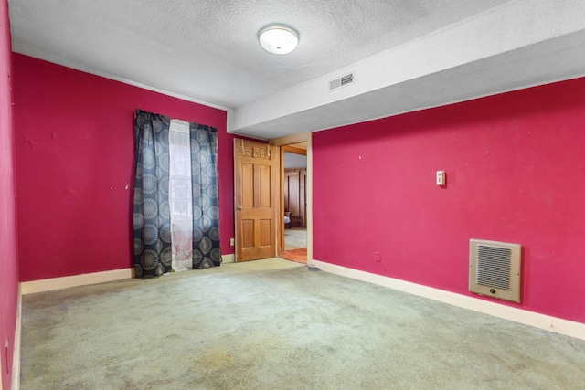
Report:
M 12 383 L 18 302 L 14 140 L 8 3 L 0 0 L 0 387 Z

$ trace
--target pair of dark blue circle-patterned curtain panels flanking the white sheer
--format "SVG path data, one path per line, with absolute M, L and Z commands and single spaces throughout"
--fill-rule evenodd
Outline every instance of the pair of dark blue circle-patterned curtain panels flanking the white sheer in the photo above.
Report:
M 169 207 L 170 118 L 136 110 L 133 202 L 134 270 L 153 278 L 172 269 Z M 221 263 L 219 249 L 218 131 L 189 123 L 193 188 L 193 268 Z

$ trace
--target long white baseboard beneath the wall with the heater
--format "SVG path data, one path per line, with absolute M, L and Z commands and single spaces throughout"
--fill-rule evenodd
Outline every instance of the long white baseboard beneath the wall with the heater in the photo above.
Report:
M 502 318 L 509 321 L 516 321 L 525 325 L 544 329 L 549 332 L 564 334 L 585 340 L 585 323 L 569 321 L 561 318 L 540 314 L 534 311 L 526 311 L 511 306 L 505 306 L 489 300 L 479 300 L 455 292 L 439 290 L 428 286 L 412 283 L 410 281 L 388 278 L 382 275 L 376 275 L 358 269 L 348 269 L 335 264 L 325 263 L 324 261 L 313 260 L 315 267 L 325 272 L 335 275 L 345 276 L 351 279 L 367 281 L 378 284 L 379 286 L 388 287 L 394 290 L 408 292 L 420 297 L 438 300 L 452 306 L 458 306 L 463 309 L 479 311 L 494 317 Z

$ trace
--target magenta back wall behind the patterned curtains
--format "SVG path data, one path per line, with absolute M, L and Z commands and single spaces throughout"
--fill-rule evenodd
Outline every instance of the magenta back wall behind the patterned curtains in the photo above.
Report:
M 227 112 L 14 55 L 20 280 L 133 267 L 133 115 L 218 128 L 222 254 L 233 253 Z

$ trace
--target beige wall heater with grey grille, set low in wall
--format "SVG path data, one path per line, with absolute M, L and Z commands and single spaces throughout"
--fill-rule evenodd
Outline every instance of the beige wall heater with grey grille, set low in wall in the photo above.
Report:
M 522 246 L 498 241 L 469 241 L 469 290 L 520 302 Z

